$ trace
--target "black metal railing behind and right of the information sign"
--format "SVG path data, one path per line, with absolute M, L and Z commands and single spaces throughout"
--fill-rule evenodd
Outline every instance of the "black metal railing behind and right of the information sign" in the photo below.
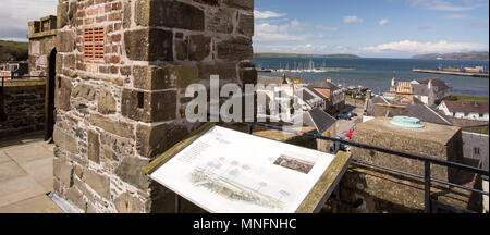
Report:
M 442 161 L 442 160 L 439 160 L 439 159 L 428 158 L 428 157 L 424 157 L 424 156 L 406 153 L 406 152 L 400 152 L 400 151 L 384 149 L 384 148 L 380 148 L 380 147 L 376 147 L 376 146 L 370 146 L 370 145 L 365 145 L 365 144 L 359 144 L 359 143 L 338 139 L 338 138 L 332 138 L 332 137 L 328 137 L 328 136 L 323 136 L 323 135 L 319 135 L 319 134 L 315 134 L 315 133 L 304 133 L 304 132 L 298 132 L 298 131 L 293 131 L 293 129 L 286 129 L 286 128 L 283 128 L 283 127 L 280 127 L 280 126 L 269 125 L 269 124 L 265 124 L 265 123 L 246 122 L 245 124 L 248 125 L 248 133 L 249 134 L 253 134 L 254 126 L 260 126 L 260 127 L 268 128 L 268 129 L 275 129 L 275 131 L 281 131 L 281 132 L 284 132 L 284 133 L 295 134 L 297 136 L 304 136 L 304 137 L 308 137 L 308 138 L 329 140 L 329 141 L 334 141 L 334 143 L 341 143 L 341 144 L 353 146 L 353 147 L 358 147 L 358 148 L 368 149 L 368 150 L 375 150 L 375 151 L 378 151 L 378 152 L 383 152 L 383 153 L 388 153 L 388 154 L 395 154 L 395 156 L 399 156 L 399 157 L 402 157 L 402 158 L 407 158 L 407 159 L 421 161 L 421 162 L 424 162 L 424 175 L 414 174 L 414 173 L 405 172 L 405 171 L 400 171 L 400 170 L 396 170 L 396 169 L 391 169 L 391 168 L 387 168 L 387 166 L 383 166 L 383 165 L 378 165 L 378 164 L 364 162 L 364 161 L 359 161 L 359 160 L 352 160 L 352 162 L 356 163 L 356 164 L 364 164 L 364 165 L 375 166 L 375 168 L 379 168 L 379 169 L 382 169 L 382 170 L 385 170 L 385 171 L 390 171 L 390 172 L 393 172 L 393 173 L 397 173 L 397 174 L 404 174 L 404 175 L 409 175 L 409 176 L 414 176 L 414 177 L 418 177 L 418 178 L 424 178 L 424 191 L 425 191 L 425 200 L 424 201 L 425 201 L 425 211 L 427 213 L 432 213 L 436 208 L 442 208 L 442 209 L 451 210 L 451 211 L 454 211 L 454 212 L 465 212 L 465 213 L 474 212 L 474 211 L 469 211 L 469 210 L 466 210 L 466 209 L 455 208 L 455 207 L 452 207 L 450 205 L 445 205 L 445 203 L 442 203 L 442 202 L 440 202 L 438 200 L 431 199 L 431 197 L 430 197 L 430 189 L 432 187 L 432 182 L 436 182 L 436 183 L 439 183 L 439 184 L 443 184 L 443 185 L 449 185 L 449 186 L 452 186 L 452 187 L 457 187 L 457 188 L 469 190 L 469 191 L 474 191 L 474 193 L 478 193 L 478 194 L 481 194 L 481 195 L 487 195 L 487 196 L 489 195 L 488 191 L 482 191 L 482 190 L 479 190 L 479 189 L 466 187 L 464 185 L 453 184 L 453 183 L 450 183 L 450 182 L 446 182 L 446 181 L 432 178 L 431 177 L 430 166 L 432 164 L 442 165 L 442 166 L 446 166 L 446 168 L 460 169 L 460 170 L 468 171 L 468 172 L 471 172 L 471 173 L 475 173 L 475 174 L 487 175 L 487 176 L 489 175 L 489 171 L 488 170 L 475 168 L 475 166 L 471 166 L 471 165 L 461 164 L 461 163 L 457 163 L 457 162 Z

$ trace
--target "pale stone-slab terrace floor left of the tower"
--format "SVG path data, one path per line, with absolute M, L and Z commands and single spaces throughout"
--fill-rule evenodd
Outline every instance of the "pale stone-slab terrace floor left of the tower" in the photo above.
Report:
M 30 135 L 0 140 L 0 213 L 62 213 L 52 191 L 53 145 Z

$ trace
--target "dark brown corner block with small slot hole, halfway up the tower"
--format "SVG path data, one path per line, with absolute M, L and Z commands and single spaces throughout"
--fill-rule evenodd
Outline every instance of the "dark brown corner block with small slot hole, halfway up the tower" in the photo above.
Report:
M 122 92 L 121 112 L 140 122 L 163 122 L 176 116 L 176 91 L 140 92 L 125 89 Z

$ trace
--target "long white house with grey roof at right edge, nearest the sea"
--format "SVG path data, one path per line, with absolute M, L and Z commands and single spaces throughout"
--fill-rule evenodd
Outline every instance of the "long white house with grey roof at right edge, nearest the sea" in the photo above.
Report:
M 488 122 L 488 103 L 485 102 L 462 102 L 444 100 L 439 104 L 438 110 L 448 116 L 465 120 L 476 120 Z

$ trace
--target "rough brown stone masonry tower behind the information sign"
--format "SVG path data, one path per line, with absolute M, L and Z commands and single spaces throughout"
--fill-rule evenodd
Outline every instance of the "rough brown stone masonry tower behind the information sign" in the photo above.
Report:
M 198 123 L 192 83 L 256 83 L 253 0 L 60 0 L 54 189 L 87 212 L 173 212 L 142 168 Z

